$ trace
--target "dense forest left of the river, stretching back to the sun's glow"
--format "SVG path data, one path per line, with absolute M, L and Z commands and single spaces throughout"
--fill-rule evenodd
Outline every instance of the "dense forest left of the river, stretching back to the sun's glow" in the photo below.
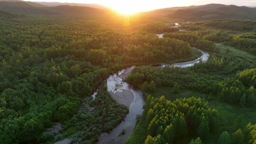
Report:
M 192 55 L 186 42 L 159 39 L 146 32 L 150 30 L 132 31 L 119 22 L 11 17 L 0 23 L 3 24 L 0 25 L 0 143 L 3 144 L 35 139 L 47 142 L 52 136 L 41 133 L 53 122 L 61 122 L 68 132 L 73 130 L 65 136 L 82 131 L 75 128 L 74 122 L 87 126 L 91 132 L 83 139 L 93 143 L 101 132 L 109 132 L 127 114 L 126 109 L 116 109 L 120 106 L 114 101 L 106 101 L 93 115 L 86 110 L 82 116 L 77 114 L 82 103 L 91 103 L 83 99 L 91 96 L 110 73 L 132 63 L 170 62 Z M 121 27 L 114 29 L 117 25 Z M 103 92 L 99 95 L 110 97 Z M 97 101 L 102 103 L 102 100 L 99 97 L 91 107 L 99 108 Z M 109 115 L 104 109 L 116 109 L 119 114 Z M 102 116 L 103 111 L 106 116 Z M 104 121 L 101 126 L 92 121 L 105 117 L 109 122 Z

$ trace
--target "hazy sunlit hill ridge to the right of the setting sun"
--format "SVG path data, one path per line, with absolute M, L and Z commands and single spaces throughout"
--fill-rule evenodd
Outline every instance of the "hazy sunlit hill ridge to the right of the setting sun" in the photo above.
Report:
M 206 20 L 217 18 L 256 19 L 256 9 L 235 5 L 207 4 L 201 6 L 156 9 L 140 14 L 154 19 Z

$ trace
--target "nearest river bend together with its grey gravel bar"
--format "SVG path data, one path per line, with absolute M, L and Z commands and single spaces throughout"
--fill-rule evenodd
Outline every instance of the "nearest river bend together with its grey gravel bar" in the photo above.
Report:
M 116 102 L 129 107 L 129 113 L 125 119 L 110 133 L 102 133 L 96 144 L 123 144 L 133 132 L 137 121 L 137 115 L 143 112 L 145 99 L 143 93 L 131 84 L 123 81 L 134 67 L 123 69 L 107 79 L 108 91 Z M 124 135 L 120 135 L 125 130 Z

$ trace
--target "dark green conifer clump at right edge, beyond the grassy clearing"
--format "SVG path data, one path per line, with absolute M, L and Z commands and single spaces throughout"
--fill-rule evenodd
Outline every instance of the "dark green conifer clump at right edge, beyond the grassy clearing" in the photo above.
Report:
M 248 69 L 239 72 L 235 78 L 218 83 L 213 91 L 225 102 L 253 108 L 256 104 L 255 79 L 256 69 Z

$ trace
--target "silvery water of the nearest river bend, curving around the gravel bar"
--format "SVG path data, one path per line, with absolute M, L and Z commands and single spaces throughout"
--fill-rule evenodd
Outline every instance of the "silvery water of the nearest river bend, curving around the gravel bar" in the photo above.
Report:
M 129 69 L 132 68 L 133 67 Z M 125 117 L 124 121 L 115 127 L 109 134 L 101 134 L 97 144 L 123 144 L 135 127 L 137 115 L 141 115 L 143 112 L 143 106 L 145 104 L 143 93 L 136 87 L 133 87 L 131 84 L 118 77 L 118 75 L 126 72 L 127 70 L 128 69 L 124 69 L 119 71 L 117 74 L 111 75 L 107 79 L 107 85 L 108 91 L 112 91 L 114 93 L 117 91 L 121 92 L 123 90 L 130 90 L 133 93 L 134 99 L 129 107 L 129 113 Z M 119 85 L 119 87 L 116 87 L 116 85 Z M 125 129 L 125 135 L 119 136 L 122 129 Z

